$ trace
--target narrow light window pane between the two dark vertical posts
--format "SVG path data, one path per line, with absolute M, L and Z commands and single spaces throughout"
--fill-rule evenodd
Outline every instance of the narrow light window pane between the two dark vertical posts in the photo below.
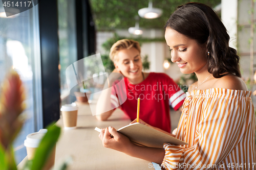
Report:
M 58 0 L 61 103 L 72 103 L 66 82 L 66 68 L 77 60 L 75 1 Z

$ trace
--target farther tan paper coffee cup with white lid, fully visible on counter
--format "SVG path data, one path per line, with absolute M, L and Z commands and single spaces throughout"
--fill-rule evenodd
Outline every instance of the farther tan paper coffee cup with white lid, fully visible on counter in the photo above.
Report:
M 75 103 L 63 105 L 60 108 L 60 111 L 62 113 L 62 119 L 64 124 L 64 129 L 70 130 L 76 128 L 76 122 L 77 122 L 77 111 L 78 107 Z

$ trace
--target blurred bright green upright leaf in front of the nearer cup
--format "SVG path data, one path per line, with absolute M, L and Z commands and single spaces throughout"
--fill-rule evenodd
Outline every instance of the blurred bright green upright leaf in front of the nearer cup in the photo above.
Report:
M 38 148 L 35 151 L 34 159 L 32 160 L 31 170 L 39 170 L 44 167 L 47 162 L 47 158 L 50 156 L 57 139 L 60 135 L 60 128 L 56 125 L 49 125 L 48 132 L 42 138 Z

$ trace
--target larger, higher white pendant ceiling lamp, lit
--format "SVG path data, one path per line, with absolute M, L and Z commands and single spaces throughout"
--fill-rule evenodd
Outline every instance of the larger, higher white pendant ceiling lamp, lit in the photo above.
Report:
M 153 8 L 152 0 L 148 2 L 148 8 L 142 8 L 138 11 L 139 16 L 147 19 L 158 18 L 162 15 L 163 11 L 159 8 Z

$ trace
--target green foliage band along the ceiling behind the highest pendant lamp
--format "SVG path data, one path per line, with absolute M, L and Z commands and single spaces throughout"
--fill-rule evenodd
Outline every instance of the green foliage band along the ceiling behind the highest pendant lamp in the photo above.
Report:
M 162 29 L 169 16 L 179 5 L 187 2 L 199 2 L 212 8 L 221 3 L 221 0 L 153 0 L 153 7 L 161 8 L 163 14 L 156 19 L 140 18 L 140 27 L 145 29 Z M 96 29 L 109 31 L 114 29 L 127 29 L 135 26 L 135 16 L 138 10 L 148 7 L 148 0 L 91 0 L 92 12 Z

